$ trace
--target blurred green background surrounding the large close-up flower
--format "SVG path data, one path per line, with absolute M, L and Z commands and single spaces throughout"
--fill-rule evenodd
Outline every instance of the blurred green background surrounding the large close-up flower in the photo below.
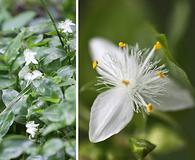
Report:
M 132 122 L 110 139 L 91 144 L 88 123 L 97 96 L 96 72 L 91 68 L 88 43 L 93 37 L 151 47 L 156 32 L 164 33 L 178 64 L 195 85 L 195 1 L 193 0 L 80 0 L 79 1 L 79 157 L 80 160 L 133 160 L 129 138 L 156 144 L 148 160 L 195 159 L 195 108 L 155 112 L 147 120 L 135 114 Z M 147 122 L 146 122 L 147 121 Z

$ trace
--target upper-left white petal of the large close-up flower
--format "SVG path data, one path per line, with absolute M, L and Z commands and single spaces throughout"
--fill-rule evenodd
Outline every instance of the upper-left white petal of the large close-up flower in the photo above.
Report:
M 97 72 L 111 85 L 126 77 L 127 53 L 107 40 L 94 38 L 90 41 L 92 60 L 98 62 Z

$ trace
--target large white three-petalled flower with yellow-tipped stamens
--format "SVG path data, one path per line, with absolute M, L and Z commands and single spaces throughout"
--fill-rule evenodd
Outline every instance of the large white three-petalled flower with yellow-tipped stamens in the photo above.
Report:
M 103 141 L 120 132 L 135 112 L 149 113 L 155 109 L 179 110 L 193 106 L 187 89 L 182 88 L 167 74 L 165 65 L 152 61 L 157 42 L 152 49 L 129 49 L 120 42 L 119 48 L 96 38 L 91 40 L 93 68 L 99 73 L 98 84 L 109 88 L 93 103 L 89 123 L 91 142 Z

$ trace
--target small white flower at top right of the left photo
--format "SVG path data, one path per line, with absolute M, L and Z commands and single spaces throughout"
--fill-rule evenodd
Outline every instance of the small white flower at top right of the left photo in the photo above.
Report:
M 75 30 L 75 24 L 71 20 L 66 19 L 64 22 L 58 24 L 58 28 L 61 29 L 64 33 L 73 33 Z

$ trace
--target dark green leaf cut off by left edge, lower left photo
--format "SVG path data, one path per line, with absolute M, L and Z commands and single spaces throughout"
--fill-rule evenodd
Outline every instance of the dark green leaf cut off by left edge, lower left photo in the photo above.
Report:
M 0 138 L 8 132 L 10 126 L 14 122 L 14 118 L 15 116 L 10 110 L 4 111 L 0 114 Z

